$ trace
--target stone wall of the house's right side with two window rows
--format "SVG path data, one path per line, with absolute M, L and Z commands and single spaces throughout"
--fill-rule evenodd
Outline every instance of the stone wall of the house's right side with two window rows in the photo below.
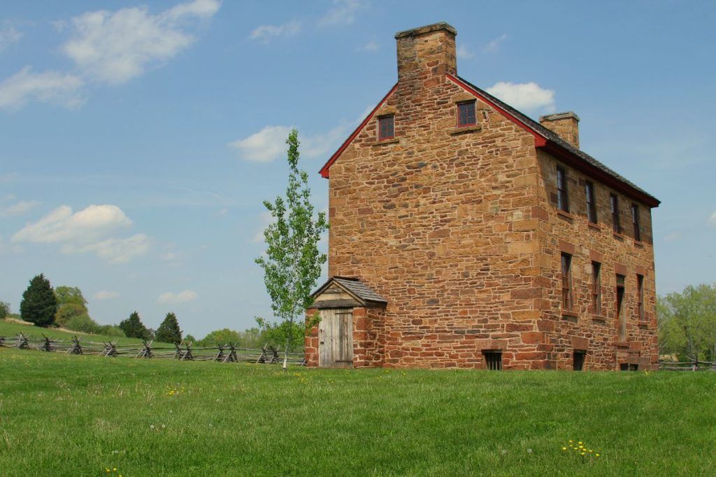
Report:
M 571 369 L 574 338 L 581 346 L 588 343 L 586 369 L 618 369 L 622 363 L 651 368 L 658 360 L 654 248 L 649 207 L 639 204 L 641 241 L 634 240 L 629 199 L 605 185 L 594 183 L 596 224 L 586 215 L 584 174 L 540 152 L 541 182 L 540 258 L 545 278 L 544 320 L 541 330 L 548 338 L 551 365 Z M 561 165 L 568 178 L 570 212 L 556 207 L 556 167 Z M 623 233 L 611 227 L 609 194 L 619 197 Z M 572 255 L 572 283 L 575 305 L 571 313 L 561 308 L 561 252 Z M 591 262 L 601 263 L 601 313 L 591 309 Z M 623 313 L 627 320 L 627 340 L 619 342 L 616 323 L 616 274 L 626 277 Z M 644 320 L 637 313 L 637 274 L 644 276 Z M 578 348 L 580 349 L 580 348 Z

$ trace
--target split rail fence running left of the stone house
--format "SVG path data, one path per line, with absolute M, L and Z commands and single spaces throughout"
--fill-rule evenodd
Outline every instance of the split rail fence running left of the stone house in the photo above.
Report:
M 71 340 L 58 340 L 42 334 L 42 339 L 32 338 L 20 333 L 14 338 L 0 336 L 0 348 L 13 347 L 21 350 L 39 350 L 48 353 L 68 355 L 99 355 L 106 358 L 125 356 L 136 359 L 165 358 L 181 361 L 217 361 L 219 363 L 283 363 L 283 353 L 272 346 L 263 346 L 260 350 L 238 348 L 236 343 L 216 346 L 193 347 L 191 342 L 182 341 L 173 347 L 162 343 L 155 346 L 153 341 L 142 340 L 142 345 L 120 345 L 117 340 L 97 343 L 84 341 L 82 336 L 73 336 Z M 302 353 L 289 353 L 289 364 L 306 365 Z

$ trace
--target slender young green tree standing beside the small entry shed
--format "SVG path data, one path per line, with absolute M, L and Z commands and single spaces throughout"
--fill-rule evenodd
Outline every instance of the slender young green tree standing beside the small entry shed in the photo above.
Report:
M 288 364 L 294 322 L 304 316 L 313 303 L 311 290 L 321 276 L 321 265 L 326 262 L 326 255 L 318 250 L 318 242 L 321 233 L 328 228 L 325 213 L 319 212 L 317 217 L 314 214 L 308 174 L 298 167 L 299 133 L 296 129 L 291 130 L 286 144 L 289 146 L 286 197 L 263 202 L 273 222 L 263 231 L 266 256 L 256 258 L 256 263 L 263 268 L 263 282 L 271 297 L 271 309 L 278 319 L 272 326 L 289 323 L 284 342 L 284 370 Z

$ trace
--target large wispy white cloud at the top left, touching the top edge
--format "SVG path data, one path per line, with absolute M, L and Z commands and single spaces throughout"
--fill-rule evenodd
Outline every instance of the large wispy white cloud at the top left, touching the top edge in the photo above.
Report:
M 209 19 L 218 0 L 195 0 L 150 14 L 146 6 L 88 11 L 72 19 L 72 39 L 64 54 L 89 77 L 122 84 L 153 64 L 173 58 L 194 41 L 186 20 Z

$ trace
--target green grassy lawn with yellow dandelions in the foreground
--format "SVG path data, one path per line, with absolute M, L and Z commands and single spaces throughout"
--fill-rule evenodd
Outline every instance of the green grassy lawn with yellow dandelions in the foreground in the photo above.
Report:
M 715 442 L 709 372 L 284 374 L 0 348 L 7 476 L 714 475 Z

